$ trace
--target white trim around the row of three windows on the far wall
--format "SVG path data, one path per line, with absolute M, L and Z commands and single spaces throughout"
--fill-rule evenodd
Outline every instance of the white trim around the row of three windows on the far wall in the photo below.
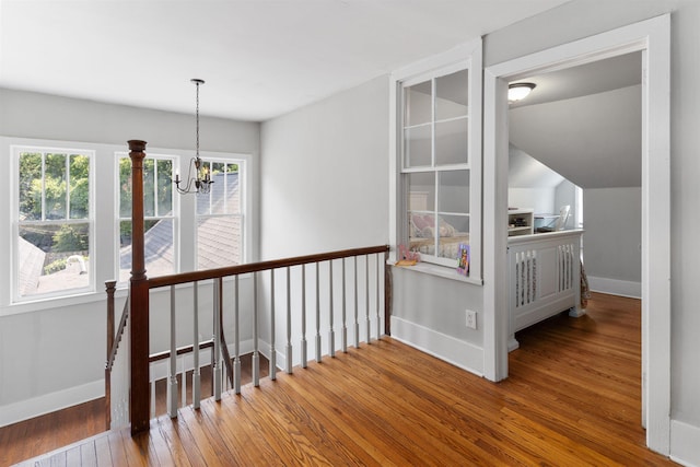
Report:
M 90 267 L 93 271 L 93 281 L 91 290 L 84 291 L 66 291 L 63 294 L 42 295 L 31 297 L 21 302 L 14 300 L 14 291 L 16 289 L 13 279 L 16 268 L 16 247 L 14 246 L 13 235 L 18 234 L 18 206 L 19 202 L 19 178 L 15 174 L 19 171 L 19 161 L 13 157 L 13 147 L 23 148 L 51 148 L 56 152 L 83 152 L 92 151 L 94 154 L 91 160 L 91 210 L 93 224 L 91 225 L 90 247 Z M 80 150 L 77 150 L 79 148 Z M 58 151 L 60 150 L 60 151 Z M 10 265 L 10 267 L 0 268 L 0 316 L 11 316 L 22 313 L 32 313 L 39 311 L 49 311 L 56 308 L 67 308 L 81 304 L 98 304 L 104 302 L 105 291 L 104 282 L 116 280 L 115 276 L 118 270 L 118 237 L 115 236 L 119 212 L 118 207 L 118 161 L 115 153 L 127 153 L 126 144 L 95 143 L 84 141 L 60 141 L 45 140 L 37 138 L 19 138 L 0 136 L 0 156 L 10 161 L 10 170 L 0 174 L 3 183 L 0 184 L 0 196 L 8 202 L 0 203 L 0 219 L 4 222 L 0 227 L 0 243 L 7 245 L 0 248 L 0 264 Z M 179 167 L 179 172 L 185 173 L 187 163 L 189 163 L 192 151 L 172 148 L 147 148 L 147 155 L 150 154 L 168 154 L 177 157 L 175 168 Z M 259 211 L 258 192 L 255 189 L 254 180 L 258 179 L 257 171 L 259 168 L 258 157 L 249 153 L 234 152 L 207 152 L 200 151 L 200 155 L 207 160 L 232 160 L 245 162 L 245 174 L 242 179 L 242 207 L 245 215 L 245 226 L 243 230 L 243 257 L 246 262 L 257 260 L 258 255 L 258 225 L 256 223 L 256 213 Z M 98 178 L 98 179 L 97 179 Z M 195 270 L 196 253 L 190 247 L 180 247 L 180 245 L 194 245 L 196 235 L 195 224 L 195 203 L 194 196 L 174 196 L 174 210 L 187 217 L 177 220 L 176 252 L 179 253 L 179 271 Z M 191 252 L 191 253 L 190 253 Z M 148 271 L 147 271 L 148 275 Z M 125 296 L 124 289 L 126 284 L 119 285 L 118 296 Z

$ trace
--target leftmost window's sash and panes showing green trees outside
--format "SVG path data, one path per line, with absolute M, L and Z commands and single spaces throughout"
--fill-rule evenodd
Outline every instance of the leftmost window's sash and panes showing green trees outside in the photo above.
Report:
M 93 289 L 92 151 L 14 147 L 15 299 Z

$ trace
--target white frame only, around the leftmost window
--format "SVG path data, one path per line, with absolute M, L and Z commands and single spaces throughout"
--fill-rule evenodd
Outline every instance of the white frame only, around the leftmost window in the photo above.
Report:
M 63 144 L 11 144 L 10 145 L 10 154 L 11 154 L 11 178 L 12 178 L 12 196 L 11 196 L 11 277 L 12 277 L 12 285 L 11 285 L 11 295 L 12 301 L 11 304 L 21 304 L 21 303 L 32 303 L 37 301 L 45 301 L 49 299 L 59 299 L 67 297 L 72 295 L 81 295 L 85 293 L 91 293 L 95 291 L 95 163 L 96 156 L 95 151 L 86 148 L 78 148 L 80 144 L 75 145 L 63 145 Z M 19 170 L 20 170 L 20 154 L 23 152 L 42 152 L 42 153 L 63 153 L 67 155 L 70 154 L 81 154 L 85 155 L 90 159 L 90 171 L 89 171 L 89 213 L 88 219 L 84 220 L 75 220 L 71 221 L 70 219 L 61 221 L 47 221 L 52 224 L 58 223 L 86 223 L 89 225 L 89 259 L 88 259 L 88 285 L 81 288 L 67 289 L 55 292 L 47 292 L 34 295 L 20 295 L 20 281 L 19 281 L 19 268 L 20 268 L 20 248 L 18 240 L 20 237 L 20 183 L 19 183 Z M 66 207 L 69 209 L 69 207 Z

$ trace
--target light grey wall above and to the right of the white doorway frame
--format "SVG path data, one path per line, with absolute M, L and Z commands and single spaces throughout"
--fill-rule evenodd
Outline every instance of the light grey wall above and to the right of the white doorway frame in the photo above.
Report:
M 700 199 L 700 159 L 697 157 L 700 125 L 700 79 L 697 56 L 700 43 L 700 3 L 693 0 L 574 0 L 513 24 L 485 38 L 485 66 L 522 57 L 593 34 L 672 12 L 670 70 L 670 201 L 672 201 L 672 454 L 680 453 L 681 433 L 688 464 L 700 465 L 700 373 L 698 342 L 700 314 L 697 284 L 700 269 L 688 260 L 697 250 L 700 217 L 692 215 Z M 587 208 L 584 205 L 584 211 Z M 587 227 L 587 225 L 586 225 Z M 651 245 L 653 247 L 653 245 Z M 676 423 L 677 422 L 677 423 Z M 675 428 L 674 428 L 675 427 Z M 693 457 L 695 456 L 695 457 Z

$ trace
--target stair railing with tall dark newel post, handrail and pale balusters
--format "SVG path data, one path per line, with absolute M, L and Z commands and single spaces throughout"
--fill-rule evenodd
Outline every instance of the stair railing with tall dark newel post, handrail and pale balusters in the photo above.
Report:
M 200 339 L 199 332 L 197 329 L 198 320 L 199 320 L 199 312 L 198 312 L 198 284 L 202 281 L 211 281 L 212 283 L 212 303 L 213 303 L 213 358 L 211 361 L 212 365 L 212 378 L 213 378 L 213 393 L 214 398 L 221 398 L 222 392 L 222 363 L 226 365 L 231 362 L 231 355 L 226 355 L 223 350 L 225 346 L 225 329 L 224 329 L 224 303 L 223 303 L 223 285 L 224 278 L 226 279 L 226 284 L 229 282 L 233 283 L 234 287 L 234 299 L 232 304 L 226 304 L 230 307 L 233 307 L 233 369 L 228 373 L 233 373 L 233 386 L 236 394 L 241 392 L 241 336 L 240 336 L 240 294 L 238 294 L 238 285 L 240 285 L 240 277 L 250 277 L 253 282 L 253 383 L 254 385 L 259 384 L 259 372 L 258 372 L 258 361 L 259 361 L 259 336 L 258 336 L 258 319 L 259 319 L 259 310 L 258 310 L 258 280 L 260 273 L 262 271 L 269 271 L 270 273 L 270 308 L 269 308 L 269 319 L 270 319 L 270 378 L 276 378 L 277 372 L 277 350 L 276 350 L 276 285 L 275 285 L 275 276 L 276 271 L 282 270 L 285 271 L 285 297 L 287 297 L 287 306 L 285 306 L 285 334 L 287 334 L 287 342 L 284 346 L 283 358 L 285 359 L 284 367 L 288 373 L 292 372 L 293 367 L 293 346 L 291 342 L 292 336 L 292 303 L 291 303 L 291 272 L 292 269 L 300 269 L 301 272 L 301 360 L 300 363 L 302 367 L 306 366 L 306 353 L 307 353 L 307 340 L 306 340 L 306 284 L 305 284 L 305 276 L 306 276 L 306 266 L 310 264 L 316 264 L 316 334 L 315 334 L 315 342 L 316 342 L 316 360 L 320 361 L 320 305 L 319 305 L 319 273 L 318 273 L 318 264 L 328 262 L 329 267 L 329 295 L 331 296 L 329 301 L 329 353 L 332 355 L 335 352 L 335 329 L 334 329 L 334 301 L 332 301 L 332 289 L 336 281 L 332 280 L 332 269 L 334 261 L 342 262 L 342 279 L 341 282 L 341 349 L 343 351 L 347 350 L 347 341 L 348 341 L 348 314 L 347 314 L 347 296 L 346 296 L 346 259 L 353 258 L 353 271 L 354 271 L 354 281 L 353 283 L 353 292 L 354 292 L 354 313 L 352 315 L 353 322 L 353 335 L 354 335 L 354 345 L 358 347 L 360 345 L 360 311 L 359 311 L 359 287 L 358 287 L 358 257 L 365 257 L 365 276 L 368 279 L 365 280 L 365 306 L 364 306 L 364 317 L 362 318 L 365 323 L 366 329 L 366 342 L 371 342 L 371 312 L 370 312 L 370 285 L 369 285 L 369 268 L 370 268 L 370 256 L 376 256 L 376 337 L 380 338 L 381 330 L 381 315 L 380 315 L 380 294 L 381 285 L 380 285 L 380 277 L 381 275 L 381 265 L 384 265 L 384 326 L 385 332 L 388 334 L 388 324 L 389 324 L 389 304 L 390 304 L 390 276 L 388 272 L 388 268 L 386 268 L 386 260 L 388 259 L 388 246 L 375 246 L 375 247 L 366 247 L 366 248 L 355 248 L 348 249 L 341 252 L 326 253 L 326 254 L 317 254 L 317 255 L 308 255 L 295 258 L 287 258 L 287 259 L 278 259 L 273 261 L 265 261 L 257 264 L 248 264 L 248 265 L 240 265 L 232 266 L 226 268 L 203 270 L 203 271 L 194 271 L 186 272 L 179 275 L 172 276 L 163 276 L 158 278 L 147 278 L 145 276 L 145 257 L 144 257 L 144 220 L 143 220 L 143 159 L 145 157 L 145 141 L 141 140 L 130 140 L 129 142 L 129 156 L 131 159 L 131 225 L 132 225 L 132 238 L 131 238 L 131 279 L 129 282 L 129 301 L 128 301 L 128 320 L 125 319 L 125 326 L 128 323 L 128 334 L 126 330 L 125 338 L 129 337 L 129 354 L 127 360 L 128 364 L 128 380 L 129 380 L 129 420 L 131 423 L 131 433 L 136 434 L 142 431 L 148 431 L 150 428 L 150 417 L 149 417 L 149 406 L 150 406 L 150 395 L 149 395 L 149 383 L 150 383 L 150 366 L 151 366 L 151 355 L 150 355 L 150 292 L 151 290 L 161 289 L 161 288 L 170 288 L 170 369 L 168 369 L 168 389 L 170 394 L 167 397 L 167 407 L 168 413 L 171 417 L 177 416 L 177 332 L 176 332 L 176 294 L 177 285 L 182 284 L 191 284 L 191 290 L 195 296 L 195 307 L 194 307 L 194 322 L 192 322 L 192 335 L 194 335 L 194 343 L 192 343 L 192 395 L 194 400 L 192 405 L 195 407 L 198 406 L 200 400 L 200 390 L 199 390 L 199 350 L 200 350 Z M 248 275 L 248 276 L 246 276 Z M 189 289 L 186 287 L 185 289 Z M 126 313 L 126 312 L 125 312 Z M 109 325 L 108 325 L 109 327 Z M 126 327 L 125 327 L 126 329 Z M 184 382 L 183 382 L 184 383 Z

